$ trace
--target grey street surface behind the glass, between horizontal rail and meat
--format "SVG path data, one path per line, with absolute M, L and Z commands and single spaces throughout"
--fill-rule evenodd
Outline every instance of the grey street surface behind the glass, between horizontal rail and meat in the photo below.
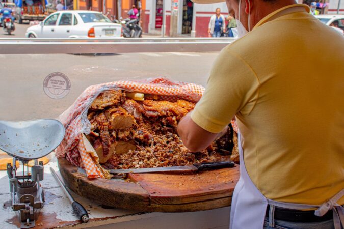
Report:
M 217 53 L 170 52 L 109 55 L 0 55 L 0 120 L 56 118 L 90 85 L 120 79 L 165 76 L 206 84 Z M 44 78 L 62 72 L 71 81 L 69 94 L 51 99 Z

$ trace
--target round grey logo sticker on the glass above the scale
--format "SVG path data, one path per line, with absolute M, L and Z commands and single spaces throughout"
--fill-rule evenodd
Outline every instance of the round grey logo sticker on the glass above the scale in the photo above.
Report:
M 43 90 L 52 99 L 62 99 L 70 91 L 70 80 L 61 72 L 54 72 L 45 77 Z

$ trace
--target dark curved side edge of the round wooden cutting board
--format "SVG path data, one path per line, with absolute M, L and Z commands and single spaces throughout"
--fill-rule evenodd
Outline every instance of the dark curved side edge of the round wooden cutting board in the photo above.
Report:
M 128 189 L 118 190 L 109 187 L 109 180 L 89 180 L 84 174 L 79 173 L 77 167 L 70 164 L 65 158 L 58 158 L 60 173 L 72 191 L 99 204 L 135 210 L 141 212 L 194 212 L 205 211 L 231 205 L 232 196 L 208 199 L 192 203 L 182 204 L 159 204 L 152 203 L 148 192 L 139 184 L 113 181 L 116 185 L 126 186 Z M 129 190 L 134 188 L 134 190 Z M 94 190 L 102 190 L 101 195 L 94 193 Z

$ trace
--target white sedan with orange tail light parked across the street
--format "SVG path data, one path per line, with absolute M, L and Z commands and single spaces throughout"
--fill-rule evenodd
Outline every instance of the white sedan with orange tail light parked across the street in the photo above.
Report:
M 122 25 L 96 11 L 64 10 L 50 14 L 25 33 L 29 38 L 116 38 Z

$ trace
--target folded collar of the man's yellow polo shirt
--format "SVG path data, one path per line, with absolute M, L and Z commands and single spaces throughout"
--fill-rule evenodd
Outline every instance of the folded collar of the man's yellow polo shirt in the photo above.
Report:
M 253 30 L 257 27 L 259 27 L 260 25 L 268 22 L 268 21 L 272 21 L 278 17 L 281 17 L 283 15 L 289 14 L 289 13 L 294 13 L 294 12 L 303 12 L 306 11 L 307 13 L 309 13 L 310 9 L 309 6 L 306 4 L 293 4 L 293 5 L 288 5 L 285 7 L 282 7 L 270 14 L 268 14 L 267 16 L 265 16 L 263 19 L 261 19 L 254 27 Z

